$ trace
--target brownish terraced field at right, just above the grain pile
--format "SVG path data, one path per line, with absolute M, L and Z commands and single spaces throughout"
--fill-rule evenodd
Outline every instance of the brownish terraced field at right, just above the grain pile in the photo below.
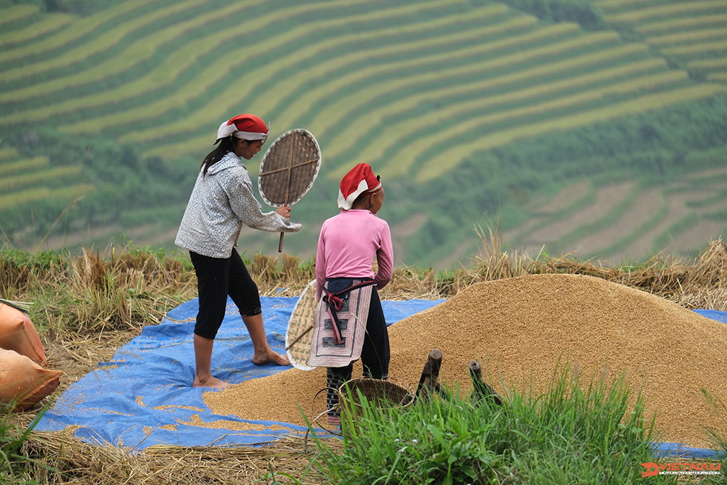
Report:
M 661 188 L 581 182 L 535 201 L 528 223 L 502 239 L 532 256 L 544 244 L 552 255 L 599 254 L 617 262 L 696 253 L 727 231 L 726 193 L 727 169 L 694 172 Z

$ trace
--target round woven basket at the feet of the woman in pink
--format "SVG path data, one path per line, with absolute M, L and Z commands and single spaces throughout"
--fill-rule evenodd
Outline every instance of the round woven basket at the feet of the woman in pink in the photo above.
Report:
M 360 416 L 363 409 L 361 396 L 366 398 L 371 406 L 379 408 L 401 406 L 407 409 L 413 402 L 413 396 L 401 385 L 387 380 L 358 377 L 344 382 L 338 388 L 338 402 L 342 415 L 348 414 L 354 419 Z

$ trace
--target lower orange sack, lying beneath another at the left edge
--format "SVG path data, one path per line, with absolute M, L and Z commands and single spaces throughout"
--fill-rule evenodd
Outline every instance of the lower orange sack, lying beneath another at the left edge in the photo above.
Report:
M 44 369 L 15 350 L 0 348 L 0 406 L 14 404 L 13 411 L 31 409 L 56 390 L 60 374 Z

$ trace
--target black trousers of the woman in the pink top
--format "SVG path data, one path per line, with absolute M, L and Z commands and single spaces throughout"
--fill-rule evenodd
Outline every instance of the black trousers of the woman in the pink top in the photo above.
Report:
M 350 278 L 334 278 L 326 281 L 329 292 L 335 293 L 351 286 L 356 281 Z M 371 289 L 371 305 L 369 316 L 366 319 L 366 336 L 364 347 L 361 348 L 361 364 L 364 366 L 364 377 L 387 380 L 389 378 L 389 361 L 391 353 L 389 348 L 389 332 L 386 328 L 384 309 L 381 306 L 379 293 L 376 287 Z M 328 367 L 326 372 L 326 406 L 329 416 L 339 416 L 337 390 L 341 385 L 351 379 L 353 362 L 343 367 Z

